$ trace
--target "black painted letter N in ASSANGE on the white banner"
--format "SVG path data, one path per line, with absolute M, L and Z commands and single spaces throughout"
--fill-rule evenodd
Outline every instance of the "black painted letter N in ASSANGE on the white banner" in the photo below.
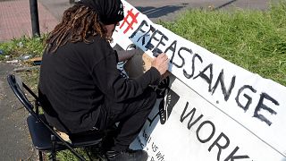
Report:
M 229 86 L 229 89 L 226 90 L 225 85 L 224 85 L 224 74 L 223 74 L 223 70 L 222 70 L 222 72 L 220 72 L 216 82 L 214 83 L 214 87 L 212 89 L 213 95 L 214 95 L 215 89 L 217 88 L 219 83 L 221 84 L 224 100 L 228 101 L 230 96 L 231 96 L 231 90 L 233 89 L 234 84 L 235 84 L 235 75 L 231 79 L 231 85 Z

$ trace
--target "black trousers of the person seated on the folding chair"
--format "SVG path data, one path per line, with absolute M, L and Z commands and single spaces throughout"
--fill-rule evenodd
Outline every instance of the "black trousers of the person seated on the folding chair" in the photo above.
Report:
M 124 150 L 138 136 L 147 116 L 156 103 L 156 92 L 147 88 L 142 95 L 116 103 L 105 98 L 105 106 L 97 121 L 99 131 L 119 123 L 112 150 Z

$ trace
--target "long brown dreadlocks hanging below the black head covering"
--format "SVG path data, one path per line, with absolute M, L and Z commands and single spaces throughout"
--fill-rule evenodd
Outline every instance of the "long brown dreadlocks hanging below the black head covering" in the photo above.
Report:
M 106 41 L 112 40 L 105 36 L 104 24 L 98 21 L 98 15 L 87 6 L 76 4 L 63 13 L 63 20 L 55 26 L 46 39 L 46 51 L 54 53 L 58 47 L 67 42 L 83 41 L 90 43 L 88 37 L 99 35 Z

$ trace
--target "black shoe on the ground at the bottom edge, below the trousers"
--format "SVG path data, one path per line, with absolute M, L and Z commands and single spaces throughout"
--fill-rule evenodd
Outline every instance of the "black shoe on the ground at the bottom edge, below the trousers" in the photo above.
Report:
M 106 151 L 108 161 L 147 161 L 148 155 L 144 150 Z

